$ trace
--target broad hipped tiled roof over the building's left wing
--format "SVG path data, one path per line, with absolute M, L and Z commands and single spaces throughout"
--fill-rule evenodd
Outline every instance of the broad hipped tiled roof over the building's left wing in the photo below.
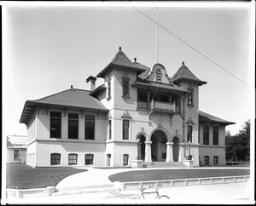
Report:
M 33 107 L 38 105 L 108 111 L 108 109 L 102 105 L 102 102 L 90 96 L 90 91 L 83 89 L 67 89 L 39 100 L 27 100 L 20 117 L 20 123 L 27 123 L 32 112 L 35 111 Z

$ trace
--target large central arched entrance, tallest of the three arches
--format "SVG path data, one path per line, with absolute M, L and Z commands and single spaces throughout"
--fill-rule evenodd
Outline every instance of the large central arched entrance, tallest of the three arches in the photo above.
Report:
M 151 158 L 153 162 L 166 161 L 166 134 L 161 130 L 156 130 L 151 136 Z

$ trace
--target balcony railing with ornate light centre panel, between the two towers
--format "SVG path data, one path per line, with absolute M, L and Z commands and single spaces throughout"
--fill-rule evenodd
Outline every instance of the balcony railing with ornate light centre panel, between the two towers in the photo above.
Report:
M 152 110 L 155 112 L 180 112 L 180 107 L 174 103 L 152 100 L 150 103 L 146 101 L 137 101 L 137 109 Z

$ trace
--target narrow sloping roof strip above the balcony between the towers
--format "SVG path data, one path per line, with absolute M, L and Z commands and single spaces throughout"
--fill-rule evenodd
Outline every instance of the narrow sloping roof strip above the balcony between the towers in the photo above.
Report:
M 146 87 L 153 87 L 153 88 L 160 88 L 160 89 L 170 89 L 170 90 L 176 90 L 176 91 L 189 93 L 188 90 L 182 89 L 182 88 L 178 87 L 175 84 L 154 83 L 154 82 L 146 81 L 146 80 L 143 80 L 143 79 L 137 79 L 134 83 L 131 83 L 131 85 L 132 86 L 141 85 L 141 86 L 146 86 Z

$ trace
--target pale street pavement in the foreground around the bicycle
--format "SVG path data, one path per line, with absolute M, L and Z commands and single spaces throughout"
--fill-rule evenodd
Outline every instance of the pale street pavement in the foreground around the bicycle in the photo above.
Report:
M 154 195 L 148 195 L 147 199 L 137 199 L 140 192 L 96 192 L 66 196 L 24 198 L 9 200 L 9 203 L 45 203 L 45 204 L 140 204 L 140 203 L 183 203 L 183 204 L 254 204 L 253 184 L 250 182 L 178 186 L 161 188 L 160 194 L 170 197 L 166 201 L 155 200 Z M 16 201 L 16 202 L 15 202 Z M 18 202 L 17 202 L 18 201 Z

